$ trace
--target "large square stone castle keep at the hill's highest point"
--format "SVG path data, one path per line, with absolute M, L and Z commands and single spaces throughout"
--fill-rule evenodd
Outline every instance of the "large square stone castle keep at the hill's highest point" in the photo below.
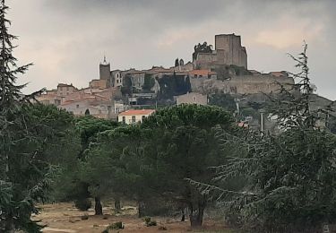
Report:
M 246 47 L 242 47 L 240 36 L 234 33 L 216 35 L 215 49 L 220 65 L 244 66 L 247 69 Z

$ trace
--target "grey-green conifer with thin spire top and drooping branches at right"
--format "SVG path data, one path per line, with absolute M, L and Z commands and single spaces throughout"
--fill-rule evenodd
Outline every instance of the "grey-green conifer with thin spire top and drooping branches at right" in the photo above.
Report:
M 301 69 L 292 74 L 298 80 L 293 90 L 299 93 L 280 87 L 280 97 L 270 97 L 269 109 L 278 116 L 280 134 L 217 134 L 224 147 L 240 151 L 227 165 L 217 167 L 218 179 L 246 177 L 246 184 L 228 190 L 194 182 L 220 196 L 228 219 L 254 231 L 318 232 L 323 222 L 336 222 L 336 136 L 321 130 L 321 118 L 310 110 L 306 45 L 298 58 L 291 57 Z

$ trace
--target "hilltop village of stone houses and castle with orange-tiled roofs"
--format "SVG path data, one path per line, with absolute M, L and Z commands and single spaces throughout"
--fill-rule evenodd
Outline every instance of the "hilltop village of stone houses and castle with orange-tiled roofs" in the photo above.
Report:
M 192 61 L 186 63 L 177 58 L 175 65 L 168 68 L 152 66 L 148 70 L 125 71 L 111 70 L 104 57 L 99 64 L 99 79 L 92 80 L 89 87 L 78 89 L 72 83 L 59 83 L 56 89 L 46 91 L 38 100 L 64 108 L 74 116 L 118 118 L 134 123 L 142 121 L 151 110 L 133 109 L 182 103 L 206 105 L 215 93 L 228 94 L 237 100 L 262 92 L 276 93 L 279 83 L 284 86 L 294 83 L 284 71 L 249 70 L 246 47 L 235 34 L 216 35 L 214 49 L 206 42 L 196 45 L 192 57 Z

